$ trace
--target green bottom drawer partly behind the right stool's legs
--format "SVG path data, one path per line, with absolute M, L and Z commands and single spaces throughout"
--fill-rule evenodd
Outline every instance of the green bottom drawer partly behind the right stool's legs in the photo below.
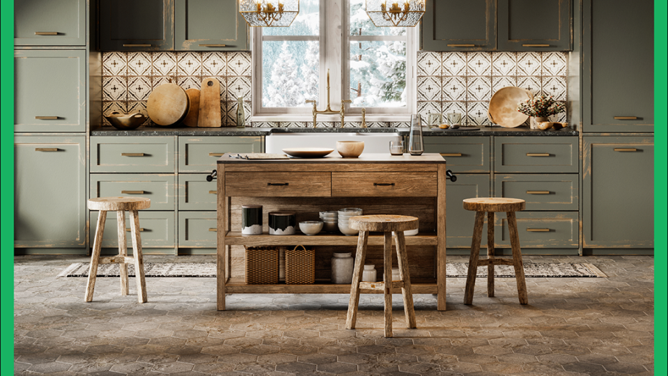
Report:
M 577 212 L 516 212 L 522 248 L 577 248 Z M 495 246 L 510 247 L 506 213 L 496 213 Z

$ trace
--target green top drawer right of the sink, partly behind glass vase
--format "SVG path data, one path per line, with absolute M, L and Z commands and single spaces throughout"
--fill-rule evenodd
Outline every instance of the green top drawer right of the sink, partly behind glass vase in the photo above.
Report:
M 440 153 L 454 173 L 490 172 L 489 137 L 425 137 L 424 151 Z

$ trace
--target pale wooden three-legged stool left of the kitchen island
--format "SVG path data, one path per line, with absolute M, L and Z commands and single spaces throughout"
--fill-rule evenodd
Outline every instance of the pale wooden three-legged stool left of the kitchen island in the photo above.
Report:
M 141 256 L 141 236 L 139 235 L 139 212 L 148 209 L 149 198 L 141 197 L 100 197 L 88 200 L 88 209 L 100 210 L 98 228 L 95 230 L 93 255 L 91 255 L 91 269 L 88 270 L 88 284 L 86 285 L 86 301 L 93 301 L 95 290 L 95 276 L 98 274 L 99 264 L 120 264 L 121 267 L 121 294 L 127 295 L 127 264 L 134 263 L 134 274 L 137 278 L 137 299 L 139 303 L 146 303 L 146 279 L 143 276 L 143 258 Z M 118 256 L 100 257 L 102 250 L 102 235 L 104 222 L 107 221 L 107 211 L 115 210 L 118 217 Z M 125 244 L 125 210 L 130 212 L 130 230 L 132 231 L 132 250 L 134 257 L 127 256 Z

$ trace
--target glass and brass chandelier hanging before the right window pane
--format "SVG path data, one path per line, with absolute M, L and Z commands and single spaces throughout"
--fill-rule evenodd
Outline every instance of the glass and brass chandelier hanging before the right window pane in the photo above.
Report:
M 375 26 L 410 27 L 417 25 L 424 15 L 425 0 L 366 0 L 366 14 Z

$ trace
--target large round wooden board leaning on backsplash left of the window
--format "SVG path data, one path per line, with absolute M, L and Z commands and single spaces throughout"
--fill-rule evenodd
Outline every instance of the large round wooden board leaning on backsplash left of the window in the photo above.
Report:
M 148 117 L 157 125 L 178 123 L 188 110 L 188 95 L 177 84 L 162 84 L 151 91 L 146 103 Z

